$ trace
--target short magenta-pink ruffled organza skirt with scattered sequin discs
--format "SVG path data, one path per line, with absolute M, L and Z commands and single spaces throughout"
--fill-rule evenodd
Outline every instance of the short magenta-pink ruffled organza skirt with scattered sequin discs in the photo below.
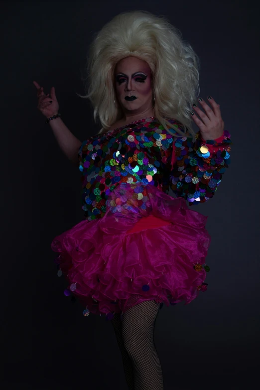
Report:
M 108 319 L 146 300 L 190 303 L 207 289 L 207 218 L 152 185 L 119 184 L 102 218 L 53 240 L 68 281 L 64 294 L 82 301 L 84 315 Z

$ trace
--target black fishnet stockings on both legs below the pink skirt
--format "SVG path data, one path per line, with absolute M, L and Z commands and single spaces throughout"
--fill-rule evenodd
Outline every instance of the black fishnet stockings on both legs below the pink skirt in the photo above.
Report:
M 160 360 L 154 345 L 154 326 L 160 304 L 145 301 L 123 314 L 114 314 L 112 324 L 123 358 L 129 390 L 163 390 Z

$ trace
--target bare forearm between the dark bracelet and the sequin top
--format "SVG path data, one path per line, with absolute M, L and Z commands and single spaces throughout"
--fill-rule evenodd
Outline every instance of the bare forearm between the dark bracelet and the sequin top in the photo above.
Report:
M 76 164 L 78 162 L 78 150 L 82 142 L 72 134 L 61 118 L 53 119 L 49 122 L 49 125 L 63 153 L 72 163 Z

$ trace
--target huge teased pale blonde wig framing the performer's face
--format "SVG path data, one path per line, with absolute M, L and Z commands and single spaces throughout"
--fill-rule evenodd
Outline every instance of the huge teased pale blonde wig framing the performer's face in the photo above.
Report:
M 116 64 L 129 56 L 146 61 L 151 69 L 155 118 L 176 138 L 189 135 L 194 141 L 190 111 L 199 93 L 199 58 L 164 16 L 139 10 L 115 16 L 95 34 L 90 46 L 83 78 L 86 95 L 77 95 L 94 106 L 94 121 L 99 118 L 102 125 L 99 133 L 123 118 L 114 72 Z M 183 125 L 183 131 L 174 128 L 179 135 L 171 132 L 173 125 L 167 118 Z

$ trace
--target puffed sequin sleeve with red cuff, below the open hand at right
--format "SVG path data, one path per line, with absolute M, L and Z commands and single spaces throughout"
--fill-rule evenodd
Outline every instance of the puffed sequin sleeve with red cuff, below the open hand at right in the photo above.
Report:
M 177 138 L 173 142 L 169 183 L 173 193 L 188 200 L 190 206 L 213 198 L 230 164 L 230 145 L 227 130 L 214 140 L 204 140 L 200 131 L 195 142 L 192 137 Z

